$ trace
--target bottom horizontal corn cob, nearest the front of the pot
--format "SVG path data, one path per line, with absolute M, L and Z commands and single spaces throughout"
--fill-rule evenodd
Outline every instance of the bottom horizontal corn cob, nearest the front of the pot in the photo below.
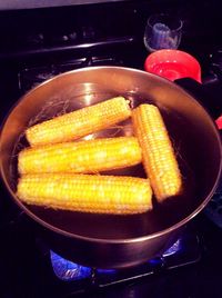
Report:
M 24 175 L 17 196 L 28 205 L 98 213 L 141 213 L 152 208 L 148 179 L 73 173 Z

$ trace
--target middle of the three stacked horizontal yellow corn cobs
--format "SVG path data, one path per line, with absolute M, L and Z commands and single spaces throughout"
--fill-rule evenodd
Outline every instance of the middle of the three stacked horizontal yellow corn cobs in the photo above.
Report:
M 19 172 L 98 172 L 140 163 L 134 137 L 94 139 L 30 147 L 20 151 Z

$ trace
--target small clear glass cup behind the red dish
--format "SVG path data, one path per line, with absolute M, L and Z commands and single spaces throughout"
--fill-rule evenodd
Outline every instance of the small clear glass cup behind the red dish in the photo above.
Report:
M 153 14 L 148 19 L 144 31 L 144 46 L 153 52 L 161 49 L 178 49 L 182 36 L 182 20 L 165 13 Z

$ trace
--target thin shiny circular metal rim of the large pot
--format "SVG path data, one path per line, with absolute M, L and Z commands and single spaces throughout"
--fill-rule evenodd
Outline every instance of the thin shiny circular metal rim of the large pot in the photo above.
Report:
M 75 70 L 71 70 L 71 71 L 67 71 L 63 72 L 61 74 L 58 74 L 42 83 L 40 83 L 39 86 L 34 87 L 33 89 L 31 89 L 28 93 L 34 91 L 36 89 L 41 88 L 41 86 L 50 83 L 50 81 L 60 78 L 60 77 L 64 77 L 64 76 L 69 76 L 69 73 L 73 73 L 73 72 L 84 72 L 84 71 L 89 71 L 89 70 L 99 70 L 99 69 L 122 69 L 122 70 L 128 70 L 128 71 L 133 71 L 133 72 L 138 72 L 138 73 L 145 73 L 145 76 L 148 77 L 158 77 L 159 80 L 162 81 L 168 81 L 168 83 L 170 85 L 174 85 L 175 88 L 178 88 L 180 91 L 183 91 L 185 93 L 189 95 L 189 91 L 184 90 L 183 88 L 181 88 L 180 86 L 175 85 L 174 82 L 159 77 L 157 74 L 143 71 L 143 70 L 138 70 L 138 69 L 133 69 L 133 68 L 127 68 L 127 67 L 115 67 L 115 66 L 101 66 L 101 67 L 87 67 L 87 68 L 81 68 L 81 69 L 75 69 Z M 2 127 L 1 127 L 1 132 L 4 128 L 4 122 L 7 121 L 9 115 L 11 113 L 11 111 L 23 100 L 23 98 L 28 95 L 26 93 L 24 96 L 22 96 L 14 105 L 13 107 L 9 110 L 8 115 L 6 116 Z M 145 236 L 141 236 L 141 237 L 137 237 L 137 238 L 123 238 L 123 239 L 109 239 L 109 238 L 93 238 L 93 237 L 87 237 L 87 236 L 81 236 L 81 235 L 77 235 L 77 234 L 72 234 L 65 230 L 62 230 L 58 227 L 54 227 L 51 224 L 48 224 L 47 221 L 42 220 L 41 218 L 39 218 L 38 216 L 36 216 L 29 208 L 26 207 L 24 203 L 22 203 L 16 196 L 16 193 L 11 190 L 10 186 L 7 182 L 4 172 L 2 170 L 2 162 L 0 160 L 0 171 L 1 171 L 1 179 L 3 180 L 3 185 L 6 186 L 8 192 L 10 193 L 11 198 L 13 199 L 13 201 L 26 212 L 26 215 L 28 215 L 31 219 L 33 219 L 34 221 L 37 221 L 38 224 L 40 224 L 40 226 L 43 226 L 44 228 L 59 234 L 61 236 L 65 236 L 68 238 L 74 238 L 74 239 L 79 239 L 79 240 L 84 240 L 84 241 L 89 241 L 89 242 L 100 242 L 100 244 L 113 244 L 113 245 L 119 245 L 119 244 L 128 244 L 128 242 L 143 242 L 150 239 L 154 239 L 154 238 L 159 238 L 161 236 L 168 235 L 179 228 L 181 228 L 182 226 L 184 226 L 188 221 L 190 221 L 192 218 L 194 218 L 210 201 L 211 197 L 213 196 L 218 185 L 219 185 L 219 180 L 221 177 L 221 172 L 222 172 L 222 141 L 221 141 L 221 137 L 219 133 L 219 130 L 216 128 L 216 125 L 214 123 L 214 120 L 212 119 L 212 117 L 209 115 L 209 112 L 206 111 L 206 109 L 191 95 L 189 95 L 194 101 L 196 101 L 196 103 L 206 112 L 206 115 L 209 116 L 209 118 L 211 119 L 213 127 L 214 127 L 214 132 L 215 132 L 215 137 L 218 139 L 218 143 L 220 147 L 220 165 L 219 165 L 219 172 L 215 179 L 215 182 L 211 189 L 211 191 L 209 192 L 209 195 L 205 197 L 205 199 L 202 201 L 201 205 L 199 205 L 199 207 L 191 212 L 189 216 L 186 216 L 185 218 L 183 218 L 182 220 L 180 220 L 179 222 L 170 226 L 169 228 L 165 228 L 163 230 L 160 230 L 158 232 L 153 232 L 153 234 L 149 234 Z M 1 143 L 1 133 L 0 133 L 0 143 Z

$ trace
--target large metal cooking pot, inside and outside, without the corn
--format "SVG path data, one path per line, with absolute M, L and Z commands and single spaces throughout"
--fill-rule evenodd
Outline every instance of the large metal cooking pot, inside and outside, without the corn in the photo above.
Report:
M 129 98 L 132 108 L 141 102 L 153 102 L 160 108 L 182 170 L 183 195 L 137 216 L 56 211 L 21 203 L 16 196 L 17 156 L 27 146 L 24 129 L 119 95 Z M 132 135 L 130 120 L 91 137 L 122 135 Z M 169 248 L 181 228 L 208 203 L 221 171 L 220 136 L 202 106 L 165 79 L 120 67 L 74 70 L 31 90 L 7 117 L 0 147 L 4 185 L 13 200 L 38 224 L 51 248 L 70 260 L 101 268 L 133 266 Z M 114 173 L 144 176 L 141 166 Z

